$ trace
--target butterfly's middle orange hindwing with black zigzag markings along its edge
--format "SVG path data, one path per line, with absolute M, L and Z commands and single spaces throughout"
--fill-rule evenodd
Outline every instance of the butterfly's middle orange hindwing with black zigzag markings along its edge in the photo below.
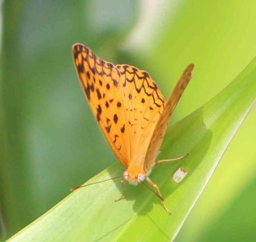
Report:
M 131 162 L 143 169 L 144 158 L 165 99 L 149 73 L 131 65 L 116 65 L 123 81 L 123 102 L 131 141 Z

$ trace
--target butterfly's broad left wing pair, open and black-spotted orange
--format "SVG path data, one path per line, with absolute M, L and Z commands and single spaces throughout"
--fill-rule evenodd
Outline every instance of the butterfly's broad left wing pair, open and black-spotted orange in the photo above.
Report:
M 80 83 L 113 153 L 125 167 L 134 162 L 144 169 L 165 105 L 157 84 L 148 72 L 103 61 L 82 44 L 75 44 L 73 53 Z

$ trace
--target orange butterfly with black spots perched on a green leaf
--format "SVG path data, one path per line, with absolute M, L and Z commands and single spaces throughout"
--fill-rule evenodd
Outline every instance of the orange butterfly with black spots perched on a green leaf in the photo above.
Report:
M 83 44 L 75 44 L 72 50 L 92 113 L 113 153 L 126 168 L 121 180 L 123 194 L 116 201 L 124 197 L 124 182 L 137 185 L 145 184 L 146 180 L 156 189 L 155 194 L 170 214 L 159 187 L 149 175 L 159 163 L 177 161 L 187 155 L 155 162 L 170 116 L 193 76 L 194 65 L 185 69 L 165 101 L 148 72 L 131 65 L 113 65 L 101 60 Z M 79 187 L 73 190 L 76 188 Z

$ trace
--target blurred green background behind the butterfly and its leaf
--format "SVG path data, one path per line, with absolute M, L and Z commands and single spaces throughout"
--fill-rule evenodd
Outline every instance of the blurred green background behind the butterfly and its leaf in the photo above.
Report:
M 1 7 L 2 241 L 116 162 L 80 88 L 72 44 L 146 69 L 166 98 L 194 63 L 172 124 L 214 97 L 256 55 L 253 0 L 11 0 Z M 176 242 L 255 241 L 255 121 L 254 108 Z

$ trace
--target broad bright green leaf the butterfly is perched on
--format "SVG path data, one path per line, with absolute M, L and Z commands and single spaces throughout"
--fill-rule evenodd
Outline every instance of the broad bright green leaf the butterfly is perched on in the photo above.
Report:
M 194 81 L 196 77 L 190 85 Z M 113 200 L 120 196 L 121 185 L 114 180 L 73 192 L 9 241 L 174 239 L 253 107 L 255 93 L 256 58 L 214 99 L 168 130 L 159 158 L 189 153 L 182 161 L 160 164 L 151 175 L 152 181 L 159 184 L 171 216 L 159 198 L 142 185 L 126 184 L 125 199 L 115 203 Z M 196 93 L 194 95 L 196 98 Z M 173 174 L 179 167 L 188 174 L 180 183 L 175 183 Z M 119 176 L 124 170 L 116 163 L 88 183 Z

